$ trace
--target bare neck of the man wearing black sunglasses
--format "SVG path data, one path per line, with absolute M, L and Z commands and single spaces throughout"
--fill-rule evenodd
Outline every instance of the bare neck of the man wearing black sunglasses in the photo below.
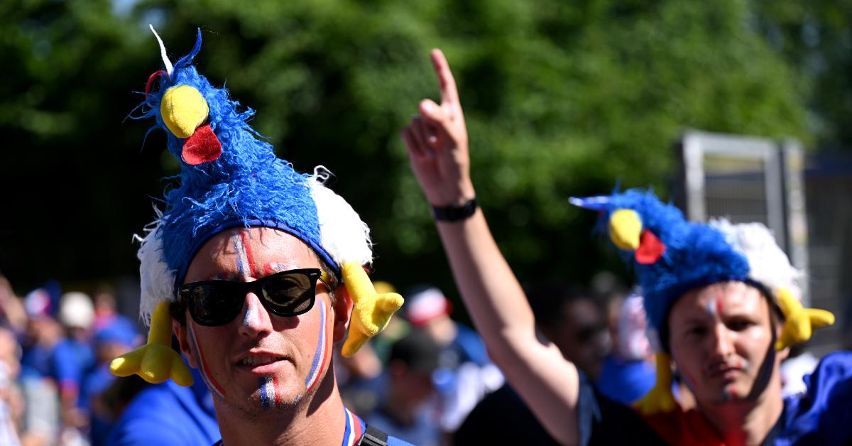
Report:
M 219 398 L 215 405 L 224 446 L 343 443 L 346 415 L 331 367 L 314 393 L 302 398 L 295 407 L 246 414 Z

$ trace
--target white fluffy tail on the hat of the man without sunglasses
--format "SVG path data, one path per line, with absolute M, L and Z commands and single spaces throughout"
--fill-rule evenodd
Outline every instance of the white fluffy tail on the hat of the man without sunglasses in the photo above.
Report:
M 746 256 L 751 280 L 763 284 L 770 293 L 786 288 L 802 300 L 797 281 L 803 274 L 790 264 L 790 259 L 775 242 L 769 228 L 762 223 L 733 224 L 726 219 L 711 220 L 710 225 L 721 231 L 728 243 Z

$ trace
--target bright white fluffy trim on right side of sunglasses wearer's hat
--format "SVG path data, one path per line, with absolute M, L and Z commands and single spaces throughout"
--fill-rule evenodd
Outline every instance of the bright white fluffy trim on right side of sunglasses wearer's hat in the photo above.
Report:
M 320 165 L 308 181 L 317 208 L 322 246 L 338 265 L 348 262 L 369 265 L 372 263 L 370 228 L 343 197 L 323 185 L 329 177 L 331 171 Z

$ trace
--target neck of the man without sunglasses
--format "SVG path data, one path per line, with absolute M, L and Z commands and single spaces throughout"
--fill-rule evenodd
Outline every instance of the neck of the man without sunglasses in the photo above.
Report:
M 778 368 L 753 400 L 699 404 L 702 414 L 729 446 L 761 444 L 784 410 Z

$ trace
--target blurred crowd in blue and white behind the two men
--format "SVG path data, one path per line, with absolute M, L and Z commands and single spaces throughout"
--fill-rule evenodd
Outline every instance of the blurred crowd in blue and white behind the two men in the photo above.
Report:
M 630 403 L 653 387 L 654 334 L 641 296 L 609 274 L 589 287 L 542 282 L 526 291 L 540 335 L 604 395 Z M 403 295 L 401 317 L 355 356 L 335 356 L 348 408 L 424 446 L 556 444 L 504 382 L 478 334 L 452 318 L 444 293 L 421 285 Z M 108 287 L 89 296 L 62 293 L 51 281 L 19 296 L 0 275 L 0 444 L 146 444 L 149 429 L 172 429 L 181 444 L 215 442 L 212 397 L 198 375 L 181 388 L 110 374 L 112 358 L 143 341 Z M 803 390 L 801 376 L 815 363 L 805 350 L 786 362 L 786 393 Z M 674 387 L 688 403 L 686 386 Z

